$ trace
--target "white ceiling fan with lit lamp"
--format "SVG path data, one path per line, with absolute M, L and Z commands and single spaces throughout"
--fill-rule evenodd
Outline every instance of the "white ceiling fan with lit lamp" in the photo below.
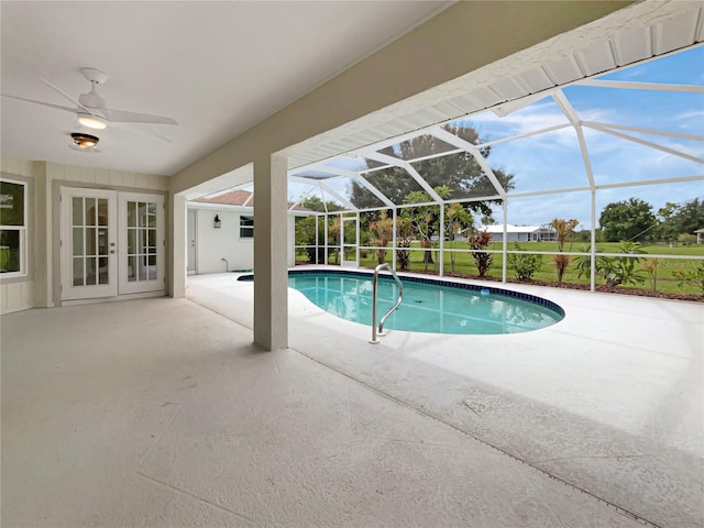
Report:
M 2 94 L 2 97 L 11 99 L 18 99 L 20 101 L 33 102 L 35 105 L 43 105 L 45 107 L 56 108 L 58 110 L 65 110 L 76 114 L 78 122 L 84 127 L 88 127 L 95 130 L 105 129 L 108 123 L 148 123 L 148 124 L 178 124 L 172 118 L 164 118 L 162 116 L 150 116 L 148 113 L 128 112 L 124 110 L 112 110 L 107 108 L 106 100 L 98 95 L 96 87 L 102 85 L 108 80 L 108 76 L 95 68 L 80 68 L 80 73 L 86 79 L 90 81 L 90 91 L 78 96 L 78 100 L 70 97 L 64 90 L 54 86 L 48 80 L 40 77 L 40 79 L 46 84 L 50 88 L 61 94 L 64 98 L 76 105 L 75 108 L 63 107 L 61 105 L 54 105 L 45 101 L 36 101 L 34 99 L 26 99 L 24 97 L 10 96 Z

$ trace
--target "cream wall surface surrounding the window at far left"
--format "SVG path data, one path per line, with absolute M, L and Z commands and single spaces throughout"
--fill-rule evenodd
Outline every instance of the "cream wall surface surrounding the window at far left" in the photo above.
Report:
M 33 180 L 32 167 L 32 162 L 16 156 L 2 154 L 0 157 L 0 170 L 8 177 L 16 175 Z M 36 229 L 33 200 L 28 199 L 26 205 L 28 222 Z M 33 233 L 30 229 L 28 229 L 26 233 L 25 251 L 29 258 L 29 255 L 32 254 L 30 245 L 32 244 Z M 0 314 L 10 314 L 34 307 L 34 266 L 31 262 L 28 262 L 26 266 L 29 272 L 26 277 L 2 278 L 0 275 Z

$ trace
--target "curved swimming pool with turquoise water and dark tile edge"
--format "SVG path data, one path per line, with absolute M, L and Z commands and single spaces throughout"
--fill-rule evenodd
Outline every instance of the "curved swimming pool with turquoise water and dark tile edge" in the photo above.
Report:
M 564 317 L 564 310 L 554 302 L 518 292 L 421 277 L 402 277 L 402 280 L 404 301 L 386 320 L 386 329 L 465 334 L 518 333 L 549 327 Z M 371 324 L 371 274 L 293 271 L 288 273 L 288 285 L 334 316 Z M 398 286 L 391 277 L 382 275 L 377 295 L 381 318 L 398 298 Z

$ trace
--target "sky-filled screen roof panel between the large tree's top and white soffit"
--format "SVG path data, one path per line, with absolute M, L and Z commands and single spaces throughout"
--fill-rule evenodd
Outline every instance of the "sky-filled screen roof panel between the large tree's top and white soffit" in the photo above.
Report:
M 512 107 L 506 108 L 510 110 Z M 487 143 L 561 124 L 568 124 L 564 113 L 552 97 L 546 97 L 503 118 L 487 110 L 472 116 L 471 121 L 457 120 L 444 128 L 446 130 L 458 125 L 473 128 L 477 133 L 477 141 L 470 141 L 470 143 Z

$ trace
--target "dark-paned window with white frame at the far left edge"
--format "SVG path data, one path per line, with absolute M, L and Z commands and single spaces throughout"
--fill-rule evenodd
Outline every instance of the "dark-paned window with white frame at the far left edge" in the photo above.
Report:
M 0 274 L 26 274 L 26 184 L 0 180 Z

